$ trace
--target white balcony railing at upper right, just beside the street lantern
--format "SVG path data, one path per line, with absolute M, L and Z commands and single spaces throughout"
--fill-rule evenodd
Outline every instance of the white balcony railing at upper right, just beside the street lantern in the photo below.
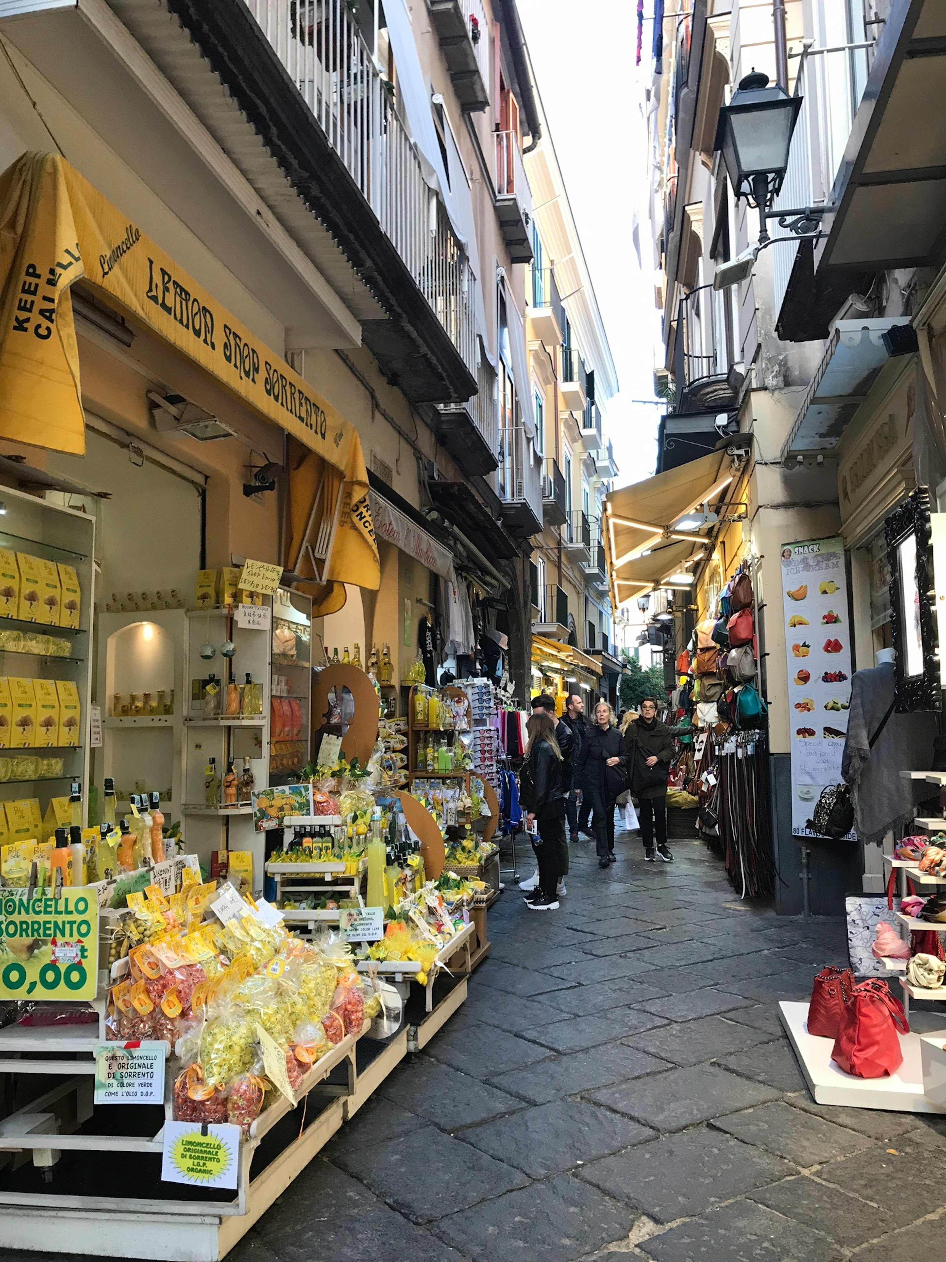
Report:
M 802 98 L 801 110 L 774 211 L 803 209 L 830 201 L 867 83 L 872 50 L 873 44 L 861 43 L 824 52 L 809 48 L 800 57 L 795 95 Z M 769 230 L 774 236 L 774 222 L 769 222 Z M 781 310 L 797 252 L 798 246 L 791 242 L 772 250 L 776 312 Z

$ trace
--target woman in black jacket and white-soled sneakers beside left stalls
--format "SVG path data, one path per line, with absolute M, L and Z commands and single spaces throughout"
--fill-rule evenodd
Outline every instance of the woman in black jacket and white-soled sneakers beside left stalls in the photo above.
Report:
M 565 796 L 563 794 L 563 756 L 555 740 L 555 719 L 544 709 L 535 709 L 526 723 L 528 745 L 520 771 L 520 801 L 525 806 L 539 863 L 539 885 L 527 893 L 526 906 L 532 911 L 556 911 L 561 878 L 561 851 L 565 842 Z

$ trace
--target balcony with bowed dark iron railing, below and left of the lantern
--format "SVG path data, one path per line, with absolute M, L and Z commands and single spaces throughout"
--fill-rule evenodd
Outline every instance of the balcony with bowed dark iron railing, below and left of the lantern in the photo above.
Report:
M 680 299 L 674 338 L 676 413 L 728 411 L 737 392 L 730 384 L 728 290 L 700 285 Z

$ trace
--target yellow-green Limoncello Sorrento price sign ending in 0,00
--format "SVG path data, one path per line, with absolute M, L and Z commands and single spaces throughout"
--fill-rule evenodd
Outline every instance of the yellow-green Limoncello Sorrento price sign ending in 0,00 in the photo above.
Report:
M 98 970 L 98 893 L 0 893 L 0 1000 L 93 1000 Z

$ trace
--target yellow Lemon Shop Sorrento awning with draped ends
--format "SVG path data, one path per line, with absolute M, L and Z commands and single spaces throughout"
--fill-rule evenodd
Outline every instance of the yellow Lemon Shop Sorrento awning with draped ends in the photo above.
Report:
M 290 505 L 298 519 L 312 519 L 296 550 L 312 546 L 318 557 L 314 583 L 377 588 L 354 428 L 58 154 L 25 153 L 0 175 L 0 438 L 85 452 L 68 298 L 77 280 L 286 430 L 313 469 L 318 458 L 322 472 L 309 481 L 320 487 L 324 514 L 317 521 L 312 501 Z

